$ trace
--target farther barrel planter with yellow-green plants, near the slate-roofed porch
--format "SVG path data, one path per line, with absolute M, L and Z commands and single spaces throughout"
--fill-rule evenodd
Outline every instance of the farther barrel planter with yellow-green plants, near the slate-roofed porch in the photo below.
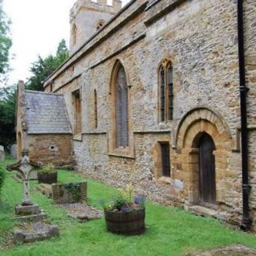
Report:
M 38 183 L 57 183 L 57 175 L 53 163 L 44 164 L 37 172 Z

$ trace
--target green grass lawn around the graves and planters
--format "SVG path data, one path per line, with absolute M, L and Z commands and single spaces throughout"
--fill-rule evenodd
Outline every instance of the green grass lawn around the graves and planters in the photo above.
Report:
M 7 159 L 2 165 L 13 163 Z M 48 214 L 52 224 L 59 225 L 60 237 L 19 244 L 4 248 L 15 221 L 14 205 L 21 202 L 22 185 L 15 181 L 14 173 L 7 173 L 2 203 L 0 204 L 0 255 L 184 255 L 186 252 L 215 248 L 228 244 L 244 244 L 256 248 L 256 236 L 225 227 L 211 218 L 197 217 L 179 208 L 146 203 L 147 230 L 140 236 L 122 236 L 107 232 L 104 219 L 78 223 L 69 219 L 67 212 L 53 204 L 39 192 L 32 193 L 32 200 Z M 58 174 L 60 182 L 82 181 L 84 177 L 65 170 Z M 37 185 L 31 182 L 31 188 Z M 89 203 L 98 207 L 100 199 L 108 199 L 115 188 L 96 180 L 88 180 Z

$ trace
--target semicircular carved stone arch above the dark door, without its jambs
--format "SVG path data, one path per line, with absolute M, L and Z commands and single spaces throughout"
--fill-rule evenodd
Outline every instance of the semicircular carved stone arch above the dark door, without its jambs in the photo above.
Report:
M 174 140 L 176 148 L 193 147 L 196 133 L 203 131 L 208 132 L 217 145 L 225 142 L 231 148 L 232 136 L 227 122 L 218 111 L 209 107 L 193 108 L 182 117 Z

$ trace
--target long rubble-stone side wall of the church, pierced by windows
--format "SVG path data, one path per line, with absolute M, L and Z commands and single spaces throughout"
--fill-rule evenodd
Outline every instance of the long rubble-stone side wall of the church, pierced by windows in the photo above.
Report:
M 150 2 L 151 3 L 151 2 Z M 50 79 L 63 93 L 72 122 L 71 92 L 82 95 L 82 133 L 74 140 L 77 170 L 164 204 L 200 201 L 198 145 L 207 132 L 215 145 L 216 216 L 239 224 L 242 214 L 237 17 L 234 1 L 131 1 L 109 25 Z M 248 93 L 250 213 L 255 218 L 255 3 L 245 5 L 245 62 Z M 125 68 L 133 138 L 130 155 L 110 152 L 111 76 Z M 159 65 L 172 62 L 173 121 L 159 122 Z M 75 71 L 71 76 L 70 67 Z M 94 89 L 98 127 L 94 127 Z M 46 86 L 46 90 L 48 87 Z M 158 143 L 171 146 L 171 177 L 161 176 Z M 255 225 L 254 220 L 254 225 Z

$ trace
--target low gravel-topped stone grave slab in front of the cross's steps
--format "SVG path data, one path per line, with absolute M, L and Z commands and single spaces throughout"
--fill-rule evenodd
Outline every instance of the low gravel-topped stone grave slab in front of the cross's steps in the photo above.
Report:
M 13 242 L 32 243 L 57 236 L 59 236 L 59 227 L 57 225 L 50 226 L 38 221 L 29 224 L 24 229 L 21 226 L 20 229 L 15 230 L 13 232 Z

